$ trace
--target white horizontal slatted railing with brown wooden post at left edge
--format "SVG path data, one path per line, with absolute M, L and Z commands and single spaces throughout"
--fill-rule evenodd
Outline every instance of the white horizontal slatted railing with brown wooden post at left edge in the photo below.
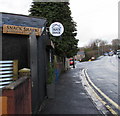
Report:
M 0 61 L 0 88 L 18 78 L 18 60 Z

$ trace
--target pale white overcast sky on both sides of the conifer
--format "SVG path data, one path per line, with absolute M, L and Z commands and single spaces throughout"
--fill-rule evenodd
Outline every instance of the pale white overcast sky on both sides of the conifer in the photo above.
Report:
M 79 47 L 96 38 L 108 42 L 118 38 L 118 1 L 70 0 Z M 28 15 L 31 3 L 32 0 L 0 0 L 0 12 Z

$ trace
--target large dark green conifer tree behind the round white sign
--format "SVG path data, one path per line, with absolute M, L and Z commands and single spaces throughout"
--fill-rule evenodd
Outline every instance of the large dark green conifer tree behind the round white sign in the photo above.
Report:
M 57 55 L 71 57 L 77 53 L 76 23 L 71 17 L 69 2 L 33 2 L 30 8 L 30 15 L 46 18 L 48 21 L 47 27 L 53 22 L 61 22 L 63 24 L 65 31 L 61 37 L 50 35 Z

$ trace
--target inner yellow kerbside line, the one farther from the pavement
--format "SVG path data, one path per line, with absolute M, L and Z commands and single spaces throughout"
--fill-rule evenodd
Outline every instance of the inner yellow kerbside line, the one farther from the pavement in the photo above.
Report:
M 104 97 L 106 98 L 112 105 L 114 105 L 118 110 L 120 110 L 120 106 L 115 103 L 112 99 L 110 99 L 107 95 L 105 95 L 98 87 L 94 85 L 94 83 L 90 80 L 90 77 L 88 76 L 87 70 L 85 70 L 85 74 L 87 76 L 88 81 L 91 83 L 91 85 Z

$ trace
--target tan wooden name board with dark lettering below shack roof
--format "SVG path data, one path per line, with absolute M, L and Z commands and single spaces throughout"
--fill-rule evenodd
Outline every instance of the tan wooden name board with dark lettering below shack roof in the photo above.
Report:
M 5 24 L 3 25 L 3 33 L 30 35 L 32 31 L 35 31 L 36 36 L 40 36 L 42 33 L 41 28 L 5 25 Z

